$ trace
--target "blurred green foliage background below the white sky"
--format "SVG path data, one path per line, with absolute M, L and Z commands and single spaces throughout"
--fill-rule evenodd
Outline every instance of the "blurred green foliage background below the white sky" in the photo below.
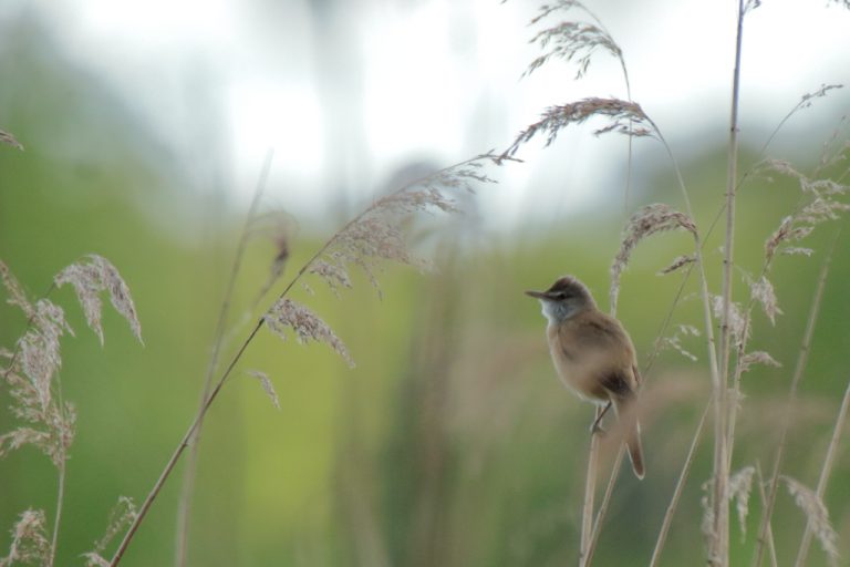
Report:
M 193 164 L 169 153 L 131 102 L 64 59 L 32 14 L 4 29 L 0 127 L 12 132 L 25 151 L 0 147 L 0 258 L 33 297 L 81 256 L 108 258 L 133 292 L 145 339 L 144 347 L 136 343 L 124 321 L 107 310 L 101 348 L 71 291 L 54 296 L 76 330 L 75 338 L 63 342 L 61 382 L 64 398 L 79 413 L 58 565 L 79 565 L 80 554 L 101 537 L 117 497 L 144 497 L 190 423 L 245 203 L 226 193 L 187 189 L 194 183 Z M 837 97 L 847 102 L 843 93 Z M 840 104 L 823 104 L 810 127 L 795 132 L 782 146 L 782 157 L 795 159 L 802 171 L 810 171 L 821 142 L 841 126 Z M 584 135 L 590 138 L 589 132 Z M 718 214 L 726 175 L 722 142 L 705 137 L 701 143 L 694 133 L 697 142 L 688 142 L 683 152 L 701 227 Z M 754 137 L 757 151 L 764 136 Z M 58 150 L 62 144 L 73 147 Z M 642 165 L 630 209 L 653 202 L 683 208 L 661 148 L 646 142 L 635 147 Z M 756 151 L 745 148 L 744 164 L 753 162 Z M 557 153 L 558 146 L 548 152 Z M 618 169 L 625 167 L 624 154 L 621 146 L 612 157 Z M 527 165 L 508 164 L 488 173 L 504 181 L 506 169 Z M 319 220 L 302 223 L 289 241 L 283 279 L 346 216 L 393 183 L 377 184 L 360 197 L 346 194 Z M 287 190 L 298 195 L 297 187 L 279 195 Z M 486 203 L 488 190 L 479 187 L 476 199 Z M 781 179 L 754 181 L 742 192 L 738 292 L 744 292 L 745 275 L 758 270 L 765 239 L 798 198 L 795 184 Z M 485 226 L 479 216 L 486 209 L 477 208 L 478 200 L 465 206 L 464 215 L 424 218 L 411 227 L 414 247 L 418 240 L 436 269 L 419 274 L 387 265 L 379 276 L 381 297 L 364 277 L 355 278 L 354 289 L 341 298 L 319 281 L 311 282 L 314 296 L 296 288 L 294 299 L 314 309 L 346 342 L 355 369 L 349 370 L 325 346 L 282 342 L 267 331 L 250 347 L 204 429 L 190 565 L 577 563 L 592 409 L 554 379 L 545 321 L 522 291 L 571 272 L 585 280 L 607 309 L 608 269 L 624 223 L 622 190 L 612 189 L 579 213 L 567 207 L 556 220 L 510 229 Z M 817 272 L 840 224 L 825 225 L 810 239 L 812 258 L 777 261 L 773 280 L 784 315 L 775 327 L 761 313 L 755 316 L 751 349 L 770 352 L 782 368 L 758 368 L 745 377 L 747 398 L 733 470 L 756 463 L 768 470 L 773 463 Z M 785 460 L 784 472 L 809 486 L 817 482 L 850 378 L 848 238 L 847 231 L 839 236 Z M 715 290 L 719 245 L 715 234 L 705 248 Z M 619 317 L 642 364 L 681 282 L 678 275 L 655 274 L 687 251 L 685 235 L 655 237 L 639 248 L 624 276 Z M 251 240 L 224 360 L 232 357 L 249 330 L 246 321 L 257 315 L 250 306 L 276 254 L 268 231 Z M 688 282 L 673 323 L 701 327 L 695 290 Z M 10 348 L 24 327 L 20 312 L 0 307 L 0 346 Z M 643 435 L 649 472 L 638 482 L 624 471 L 597 565 L 644 565 L 652 553 L 708 396 L 704 346 L 691 338 L 684 347 L 699 361 L 664 351 L 647 375 Z M 281 411 L 245 374 L 253 369 L 273 379 Z M 0 390 L 3 432 L 14 424 L 8 404 L 8 392 Z M 603 454 L 605 471 L 610 449 Z M 663 565 L 703 563 L 701 484 L 708 480 L 711 458 L 705 441 Z M 155 503 L 125 565 L 172 563 L 180 473 L 178 467 Z M 842 449 L 826 502 L 843 557 L 850 554 L 848 486 L 850 452 Z M 10 542 L 8 529 L 21 511 L 44 508 L 51 517 L 54 498 L 55 471 L 35 451 L 23 449 L 0 462 L 0 549 Z M 745 540 L 733 519 L 733 565 L 749 560 L 759 511 L 754 495 Z M 804 527 L 805 517 L 781 493 L 774 534 L 785 563 L 795 556 Z M 809 564 L 827 565 L 817 544 Z

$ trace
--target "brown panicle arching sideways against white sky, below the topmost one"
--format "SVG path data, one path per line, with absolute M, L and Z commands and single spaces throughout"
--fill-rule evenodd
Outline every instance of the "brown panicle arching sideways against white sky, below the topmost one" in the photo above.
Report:
M 654 136 L 655 127 L 641 105 L 620 99 L 589 97 L 581 101 L 550 106 L 540 120 L 517 135 L 514 143 L 505 151 L 504 157 L 512 156 L 519 147 L 538 134 L 546 136 L 546 145 L 556 141 L 561 130 L 572 124 L 582 124 L 591 117 L 608 118 L 608 124 L 593 131 L 595 135 L 618 132 L 635 137 Z

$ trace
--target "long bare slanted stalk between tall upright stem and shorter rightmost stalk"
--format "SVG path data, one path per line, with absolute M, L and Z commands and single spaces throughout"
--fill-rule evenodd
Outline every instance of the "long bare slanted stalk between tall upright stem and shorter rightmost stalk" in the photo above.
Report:
M 838 235 L 832 240 L 832 246 L 827 252 L 827 257 L 823 260 L 823 266 L 820 268 L 820 275 L 818 276 L 818 285 L 815 290 L 815 296 L 811 302 L 811 309 L 809 310 L 808 321 L 806 322 L 806 331 L 804 333 L 802 342 L 800 344 L 800 351 L 797 357 L 797 367 L 794 371 L 794 378 L 791 379 L 790 391 L 788 392 L 788 402 L 786 419 L 781 423 L 779 433 L 779 445 L 776 450 L 776 456 L 774 458 L 774 467 L 770 473 L 770 489 L 765 501 L 764 512 L 761 514 L 761 524 L 758 529 L 758 539 L 756 540 L 756 550 L 753 556 L 753 566 L 760 567 L 761 558 L 765 550 L 765 542 L 767 538 L 767 530 L 770 526 L 770 516 L 774 513 L 774 505 L 776 503 L 776 492 L 779 487 L 779 471 L 782 464 L 782 456 L 785 454 L 785 443 L 788 436 L 788 430 L 790 429 L 791 412 L 797 404 L 797 389 L 802 379 L 802 373 L 806 370 L 806 364 L 809 360 L 809 352 L 811 349 L 811 339 L 815 334 L 815 326 L 820 313 L 820 301 L 823 298 L 823 289 L 827 284 L 827 276 L 829 275 L 829 266 L 832 261 L 832 252 L 835 251 L 836 244 L 838 243 Z

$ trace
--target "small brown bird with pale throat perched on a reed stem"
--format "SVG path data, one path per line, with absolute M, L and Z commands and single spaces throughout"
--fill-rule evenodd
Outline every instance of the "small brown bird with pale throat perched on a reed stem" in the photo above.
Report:
M 540 301 L 548 320 L 549 352 L 561 382 L 580 398 L 604 408 L 609 404 L 622 423 L 632 470 L 644 476 L 641 427 L 635 401 L 641 375 L 632 339 L 615 318 L 597 308 L 590 290 L 578 278 L 562 276 L 546 291 L 526 291 Z

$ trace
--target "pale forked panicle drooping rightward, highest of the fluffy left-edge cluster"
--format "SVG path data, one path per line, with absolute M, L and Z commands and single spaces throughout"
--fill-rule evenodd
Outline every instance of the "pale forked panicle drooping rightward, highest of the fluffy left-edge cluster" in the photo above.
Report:
M 85 313 L 89 327 L 97 334 L 103 344 L 101 326 L 101 293 L 107 292 L 115 310 L 127 320 L 133 334 L 142 341 L 142 326 L 138 322 L 136 307 L 129 295 L 129 288 L 115 266 L 106 258 L 90 254 L 79 262 L 60 271 L 54 281 L 58 287 L 70 284 Z

